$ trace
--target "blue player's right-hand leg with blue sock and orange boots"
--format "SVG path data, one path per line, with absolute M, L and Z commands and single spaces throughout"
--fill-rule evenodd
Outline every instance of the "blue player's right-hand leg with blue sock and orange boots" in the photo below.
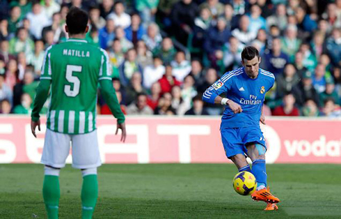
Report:
M 257 179 L 257 190 L 251 195 L 256 201 L 267 202 L 267 208 L 264 210 L 277 210 L 276 203 L 280 202 L 278 197 L 271 194 L 267 188 L 267 173 L 265 172 L 265 148 L 260 144 L 250 144 L 246 146 L 248 157 L 253 161 L 252 172 Z

